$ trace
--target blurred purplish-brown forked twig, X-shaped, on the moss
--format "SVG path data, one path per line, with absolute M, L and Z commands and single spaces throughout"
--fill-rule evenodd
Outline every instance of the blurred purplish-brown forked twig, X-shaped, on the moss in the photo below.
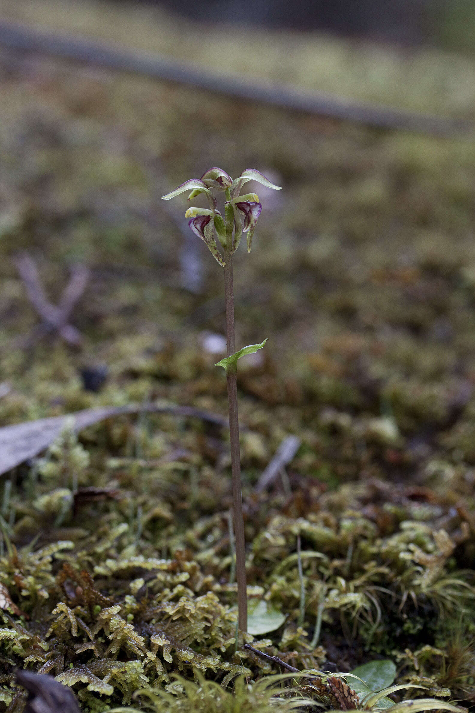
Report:
M 26 287 L 26 294 L 33 307 L 41 317 L 41 324 L 34 327 L 31 334 L 21 340 L 21 346 L 29 348 L 47 334 L 58 333 L 59 336 L 71 344 L 79 347 L 83 341 L 83 336 L 78 329 L 68 324 L 71 312 L 78 299 L 83 294 L 89 280 L 89 270 L 85 265 L 73 265 L 71 267 L 71 279 L 61 294 L 58 306 L 52 304 L 41 284 L 36 263 L 27 252 L 14 257 L 16 269 Z

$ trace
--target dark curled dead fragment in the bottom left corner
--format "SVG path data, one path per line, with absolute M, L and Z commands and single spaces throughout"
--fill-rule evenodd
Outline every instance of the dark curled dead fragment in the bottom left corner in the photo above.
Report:
M 80 713 L 71 688 L 53 676 L 19 669 L 16 680 L 28 691 L 24 713 Z

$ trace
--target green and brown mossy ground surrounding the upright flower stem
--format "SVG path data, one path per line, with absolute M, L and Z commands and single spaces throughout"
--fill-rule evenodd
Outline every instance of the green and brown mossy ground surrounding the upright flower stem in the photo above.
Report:
M 24 7 L 67 25 L 52 4 Z M 106 27 L 110 6 L 88 7 Z M 110 39 L 125 33 L 118 17 Z M 192 29 L 173 28 L 184 48 Z M 255 67 L 256 38 L 246 42 Z M 334 66 L 358 58 L 366 74 L 355 94 L 385 98 L 369 49 L 312 42 L 331 49 Z M 407 106 L 474 116 L 469 61 L 430 56 L 390 53 L 381 86 L 399 71 Z M 287 60 L 287 78 L 303 76 L 301 50 Z M 417 84 L 417 66 L 432 83 Z M 398 680 L 473 702 L 474 143 L 6 50 L 0 106 L 0 381 L 11 386 L 1 425 L 152 399 L 226 414 L 224 376 L 203 347 L 225 328 L 222 270 L 199 246 L 202 288 L 185 289 L 183 237 L 159 197 L 209 165 L 270 173 L 283 190 L 259 191 L 253 250 L 239 250 L 235 267 L 236 344 L 268 337 L 263 358 L 239 374 L 249 584 L 286 615 L 254 645 L 302 669 L 389 657 Z M 81 352 L 51 340 L 31 353 L 12 346 L 37 319 L 11 261 L 18 250 L 36 258 L 51 299 L 71 262 L 90 265 L 72 318 Z M 80 381 L 89 363 L 109 368 L 99 394 Z M 288 482 L 258 497 L 256 480 L 287 434 L 302 441 Z M 226 432 L 157 415 L 106 421 L 79 443 L 65 434 L 3 478 L 0 582 L 23 612 L 4 610 L 5 701 L 25 659 L 68 679 L 91 711 L 128 704 L 177 669 L 219 681 L 271 672 L 235 652 L 229 466 Z M 73 507 L 78 486 L 113 496 Z

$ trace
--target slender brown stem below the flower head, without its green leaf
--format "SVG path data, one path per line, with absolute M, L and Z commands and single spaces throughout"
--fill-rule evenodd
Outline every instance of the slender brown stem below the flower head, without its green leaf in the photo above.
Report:
M 226 300 L 226 356 L 234 354 L 234 289 L 231 250 L 225 250 L 224 297 Z M 236 540 L 236 581 L 238 587 L 238 628 L 247 631 L 246 548 L 241 494 L 241 454 L 239 453 L 239 418 L 237 406 L 236 366 L 226 369 L 231 437 L 231 476 L 233 486 L 234 538 Z

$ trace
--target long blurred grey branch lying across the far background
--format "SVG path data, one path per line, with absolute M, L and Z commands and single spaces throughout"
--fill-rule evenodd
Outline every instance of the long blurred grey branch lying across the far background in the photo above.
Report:
M 85 37 L 59 35 L 56 31 L 48 31 L 44 28 L 32 29 L 5 20 L 0 21 L 0 44 L 19 50 L 42 52 L 73 61 L 143 74 L 164 81 L 179 82 L 248 101 L 381 128 L 441 136 L 473 133 L 475 128 L 468 120 L 378 106 L 283 83 L 247 81 L 240 76 L 223 76 L 202 69 L 196 64 L 180 62 L 157 53 L 115 48 Z

